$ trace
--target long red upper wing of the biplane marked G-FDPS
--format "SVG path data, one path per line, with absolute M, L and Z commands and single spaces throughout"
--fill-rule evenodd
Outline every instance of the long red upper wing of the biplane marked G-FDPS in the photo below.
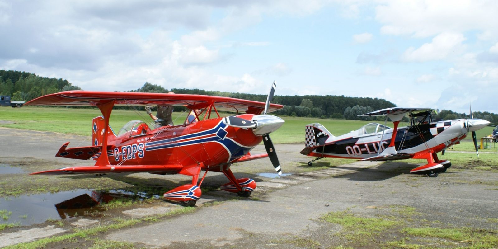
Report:
M 96 106 L 114 100 L 114 105 L 172 105 L 189 109 L 203 109 L 213 104 L 218 111 L 260 114 L 265 103 L 228 97 L 192 94 L 162 94 L 133 92 L 66 91 L 45 95 L 25 105 Z M 268 112 L 282 109 L 282 105 L 270 104 Z

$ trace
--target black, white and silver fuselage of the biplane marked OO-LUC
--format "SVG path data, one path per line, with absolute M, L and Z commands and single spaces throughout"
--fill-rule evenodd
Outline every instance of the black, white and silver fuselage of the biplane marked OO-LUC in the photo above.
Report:
M 394 147 L 398 153 L 405 154 L 415 154 L 428 149 L 439 152 L 464 139 L 469 132 L 468 123 L 469 120 L 458 119 L 398 127 Z M 393 129 L 386 126 L 383 126 L 386 128 L 384 130 L 369 129 L 368 126 L 373 124 L 377 127 L 383 126 L 371 123 L 338 137 L 328 135 L 320 127 L 313 127 L 314 133 L 318 135 L 315 137 L 316 146 L 313 146 L 312 150 L 308 149 L 308 155 L 358 159 L 378 155 L 389 145 Z M 482 128 L 483 124 L 475 122 L 474 128 Z

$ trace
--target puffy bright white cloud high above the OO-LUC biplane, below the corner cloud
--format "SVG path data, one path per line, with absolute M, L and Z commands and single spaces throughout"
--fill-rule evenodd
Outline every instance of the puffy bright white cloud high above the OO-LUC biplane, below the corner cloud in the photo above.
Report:
M 464 40 L 465 37 L 460 33 L 441 33 L 434 37 L 431 43 L 424 43 L 417 49 L 408 48 L 402 58 L 405 61 L 417 62 L 442 60 L 450 54 L 459 54 Z

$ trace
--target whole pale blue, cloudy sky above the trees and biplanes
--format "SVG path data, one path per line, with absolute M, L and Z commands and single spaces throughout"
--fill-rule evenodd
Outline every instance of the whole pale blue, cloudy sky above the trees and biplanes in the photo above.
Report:
M 495 0 L 0 0 L 0 69 L 92 91 L 386 99 L 498 113 Z

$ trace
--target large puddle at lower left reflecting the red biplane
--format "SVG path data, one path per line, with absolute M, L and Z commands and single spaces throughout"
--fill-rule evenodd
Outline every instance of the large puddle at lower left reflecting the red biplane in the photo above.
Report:
M 0 198 L 0 210 L 11 212 L 8 219 L 0 219 L 0 224 L 19 223 L 31 225 L 49 219 L 59 220 L 76 216 L 96 216 L 106 208 L 100 206 L 115 198 L 146 198 L 144 193 L 131 193 L 122 190 L 97 192 L 91 190 L 62 191 L 57 193 L 33 194 L 19 197 Z M 156 197 L 156 196 L 154 196 Z M 157 197 L 158 198 L 158 197 Z

